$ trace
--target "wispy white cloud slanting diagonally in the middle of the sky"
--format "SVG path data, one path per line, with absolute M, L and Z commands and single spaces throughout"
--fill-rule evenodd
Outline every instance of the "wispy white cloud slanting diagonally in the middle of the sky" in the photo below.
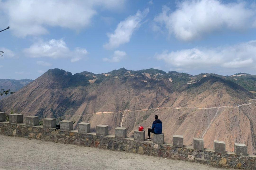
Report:
M 135 15 L 130 15 L 125 20 L 121 21 L 113 34 L 107 34 L 109 42 L 104 44 L 103 47 L 113 49 L 119 47 L 121 44 L 130 42 L 132 34 L 140 27 L 141 21 L 148 15 L 148 12 L 148 8 L 143 12 L 138 10 Z

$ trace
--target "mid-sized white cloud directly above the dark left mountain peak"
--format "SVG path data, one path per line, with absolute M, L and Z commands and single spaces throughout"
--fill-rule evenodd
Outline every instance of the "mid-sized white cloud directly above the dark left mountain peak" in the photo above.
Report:
M 73 51 L 70 50 L 62 39 L 35 42 L 29 48 L 25 48 L 23 52 L 32 58 L 71 58 L 71 62 L 79 61 L 88 53 L 86 49 L 80 47 L 76 47 Z

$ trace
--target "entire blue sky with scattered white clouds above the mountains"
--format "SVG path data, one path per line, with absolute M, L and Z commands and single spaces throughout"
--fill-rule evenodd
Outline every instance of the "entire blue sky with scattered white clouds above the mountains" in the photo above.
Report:
M 0 78 L 48 69 L 256 74 L 253 0 L 0 0 Z

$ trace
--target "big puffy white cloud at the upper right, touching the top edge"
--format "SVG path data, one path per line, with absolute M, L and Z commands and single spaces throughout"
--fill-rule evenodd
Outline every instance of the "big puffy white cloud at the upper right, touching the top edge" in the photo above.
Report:
M 255 28 L 256 9 L 244 1 L 186 0 L 178 3 L 173 12 L 164 6 L 154 21 L 158 27 L 153 25 L 153 30 L 165 26 L 177 39 L 191 41 L 223 29 L 242 31 Z

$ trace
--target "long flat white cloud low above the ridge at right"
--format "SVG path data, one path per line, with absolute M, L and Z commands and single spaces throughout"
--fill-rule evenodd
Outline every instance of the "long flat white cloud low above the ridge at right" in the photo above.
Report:
M 217 68 L 254 69 L 256 66 L 256 40 L 217 48 L 191 48 L 180 51 L 156 53 L 158 60 L 164 60 L 172 69 L 212 70 Z

